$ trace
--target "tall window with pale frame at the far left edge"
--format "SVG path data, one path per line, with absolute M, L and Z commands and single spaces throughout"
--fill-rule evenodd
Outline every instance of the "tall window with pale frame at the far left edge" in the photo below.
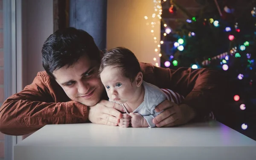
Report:
M 15 0 L 0 0 L 0 106 L 16 92 Z M 0 133 L 0 160 L 12 160 L 16 136 Z

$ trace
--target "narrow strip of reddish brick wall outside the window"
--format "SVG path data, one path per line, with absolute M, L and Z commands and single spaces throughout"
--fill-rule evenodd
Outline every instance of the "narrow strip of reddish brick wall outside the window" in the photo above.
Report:
M 0 106 L 4 100 L 3 93 L 3 0 L 0 0 Z M 0 133 L 0 160 L 4 158 L 4 134 Z

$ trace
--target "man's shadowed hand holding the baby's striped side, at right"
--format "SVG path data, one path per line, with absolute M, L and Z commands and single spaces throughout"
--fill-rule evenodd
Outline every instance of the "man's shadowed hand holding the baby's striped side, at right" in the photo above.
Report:
M 165 110 L 164 110 L 165 109 Z M 164 110 L 164 111 L 163 111 Z M 161 112 L 153 119 L 157 127 L 171 127 L 188 123 L 195 118 L 195 111 L 186 104 L 175 104 L 171 101 L 163 101 L 159 104 L 156 112 Z

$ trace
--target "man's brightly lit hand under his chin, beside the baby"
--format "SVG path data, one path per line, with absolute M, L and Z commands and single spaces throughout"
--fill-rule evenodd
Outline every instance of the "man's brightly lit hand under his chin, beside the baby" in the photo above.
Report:
M 92 107 L 88 107 L 88 119 L 95 124 L 117 126 L 125 112 L 123 107 L 111 101 L 102 100 Z

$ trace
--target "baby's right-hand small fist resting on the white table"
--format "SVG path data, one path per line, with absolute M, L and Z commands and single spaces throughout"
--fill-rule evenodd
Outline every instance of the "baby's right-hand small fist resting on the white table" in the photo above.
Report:
M 132 127 L 147 127 L 148 122 L 139 113 L 130 113 Z

